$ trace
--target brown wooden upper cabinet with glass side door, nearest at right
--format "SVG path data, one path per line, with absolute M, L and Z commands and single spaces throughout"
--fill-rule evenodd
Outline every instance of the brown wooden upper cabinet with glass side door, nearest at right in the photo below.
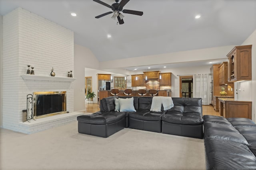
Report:
M 252 45 L 236 46 L 227 57 L 228 82 L 252 80 Z

